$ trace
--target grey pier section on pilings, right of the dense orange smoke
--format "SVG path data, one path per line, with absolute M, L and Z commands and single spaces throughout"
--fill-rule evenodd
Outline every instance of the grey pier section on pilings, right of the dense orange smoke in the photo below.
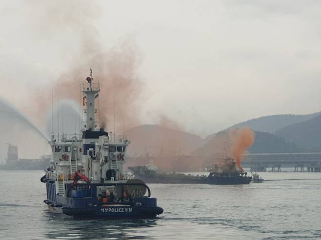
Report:
M 243 167 L 252 171 L 281 171 L 281 167 L 294 167 L 295 171 L 321 171 L 321 152 L 249 153 L 244 155 Z

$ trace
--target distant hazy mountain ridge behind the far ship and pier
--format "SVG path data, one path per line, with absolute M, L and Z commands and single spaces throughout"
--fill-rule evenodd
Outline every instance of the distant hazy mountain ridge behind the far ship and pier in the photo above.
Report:
M 159 125 L 141 125 L 126 131 L 129 155 L 189 155 L 222 151 L 229 129 L 247 126 L 255 131 L 251 153 L 321 150 L 321 112 L 281 114 L 250 119 L 202 139 L 200 136 Z

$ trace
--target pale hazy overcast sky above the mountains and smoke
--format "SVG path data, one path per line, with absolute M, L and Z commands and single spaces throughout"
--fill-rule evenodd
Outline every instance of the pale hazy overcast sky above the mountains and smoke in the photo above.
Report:
M 101 52 L 125 39 L 143 82 L 142 124 L 165 115 L 206 136 L 320 111 L 320 12 L 319 0 L 2 0 L 0 94 L 28 115 L 26 104 L 38 108 L 30 94 L 85 61 L 81 39 Z

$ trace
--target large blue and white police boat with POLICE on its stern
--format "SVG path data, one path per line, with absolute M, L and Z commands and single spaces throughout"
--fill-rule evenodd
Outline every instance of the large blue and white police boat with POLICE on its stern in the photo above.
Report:
M 122 170 L 130 141 L 97 128 L 100 84 L 93 83 L 92 70 L 86 80 L 81 86 L 86 129 L 79 135 L 52 134 L 53 160 L 40 179 L 47 190 L 43 202 L 75 219 L 155 218 L 163 209 L 150 188 Z

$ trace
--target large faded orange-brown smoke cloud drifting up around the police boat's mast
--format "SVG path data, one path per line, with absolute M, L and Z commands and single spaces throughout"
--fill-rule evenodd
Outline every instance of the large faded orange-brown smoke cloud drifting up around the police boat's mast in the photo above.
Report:
M 89 69 L 92 68 L 94 83 L 100 82 L 100 93 L 95 103 L 100 109 L 95 116 L 99 125 L 113 130 L 114 113 L 117 133 L 122 133 L 123 126 L 130 128 L 138 125 L 143 88 L 138 68 L 142 55 L 135 40 L 131 36 L 124 36 L 112 48 L 106 48 L 94 21 L 100 19 L 102 13 L 99 4 L 66 1 L 63 8 L 54 1 L 31 4 L 31 7 L 25 6 L 30 14 L 33 15 L 34 9 L 45 13 L 41 15 L 41 21 L 33 20 L 30 24 L 36 29 L 35 32 L 41 33 L 45 40 L 54 35 L 57 29 L 62 35 L 67 33 L 67 41 L 63 42 L 65 46 L 61 45 L 61 50 L 72 60 L 64 60 L 68 68 L 61 68 L 55 82 L 29 91 L 30 100 L 25 101 L 24 108 L 28 110 L 27 115 L 38 124 L 43 123 L 51 110 L 53 92 L 55 105 L 58 104 L 58 98 L 60 102 L 67 99 L 83 105 L 80 83 L 86 83 Z M 36 107 L 30 108 L 30 102 Z

